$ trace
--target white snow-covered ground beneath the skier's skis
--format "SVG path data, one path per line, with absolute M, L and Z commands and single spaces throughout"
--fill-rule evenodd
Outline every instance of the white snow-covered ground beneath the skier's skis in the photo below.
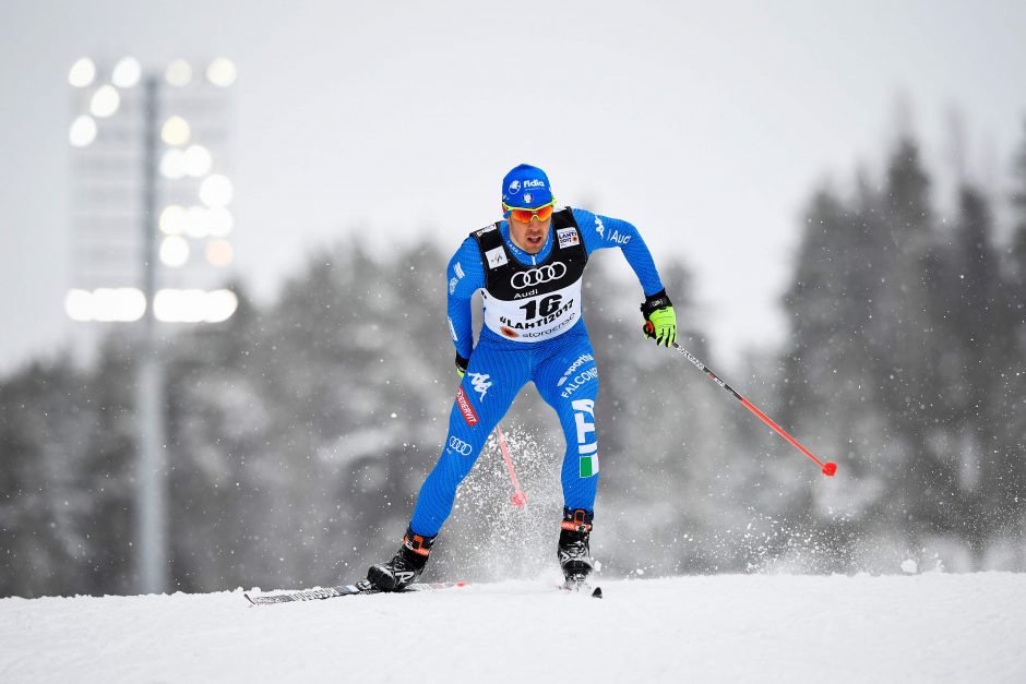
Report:
M 1026 574 L 0 600 L 10 682 L 1026 682 Z

